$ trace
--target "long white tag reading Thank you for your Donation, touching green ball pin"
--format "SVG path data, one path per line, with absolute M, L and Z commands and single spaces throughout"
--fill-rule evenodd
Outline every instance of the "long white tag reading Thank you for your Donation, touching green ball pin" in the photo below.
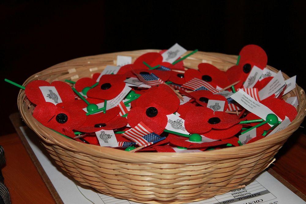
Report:
M 262 118 L 263 120 L 266 120 L 266 117 L 268 114 L 273 113 L 275 114 L 271 109 L 269 109 L 267 106 L 259 103 L 258 101 L 254 100 L 250 95 L 245 93 L 242 90 L 237 91 L 234 93 L 231 98 L 233 98 L 237 103 L 239 103 L 242 107 L 250 111 L 251 113 L 254 113 L 258 117 Z M 276 115 L 276 114 L 275 114 Z M 278 121 L 282 121 L 278 117 Z M 273 126 L 273 125 L 270 125 Z

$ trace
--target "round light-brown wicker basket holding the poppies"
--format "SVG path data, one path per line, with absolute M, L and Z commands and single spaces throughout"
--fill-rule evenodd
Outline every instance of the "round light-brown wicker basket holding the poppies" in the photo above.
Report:
M 116 64 L 117 55 L 132 56 L 134 61 L 147 52 L 138 50 L 82 57 L 54 65 L 24 82 L 77 80 L 101 72 Z M 188 52 L 189 53 L 189 52 Z M 237 56 L 197 52 L 184 60 L 188 68 L 207 62 L 226 70 Z M 276 69 L 267 66 L 274 72 Z M 289 77 L 284 75 L 285 79 Z M 18 95 L 18 107 L 25 123 L 42 139 L 42 144 L 56 163 L 81 184 L 106 195 L 144 203 L 185 203 L 203 200 L 242 187 L 266 169 L 288 137 L 299 128 L 305 117 L 305 92 L 299 86 L 285 97 L 297 96 L 297 117 L 284 130 L 240 147 L 200 153 L 131 153 L 88 145 L 67 139 L 44 127 L 32 117 L 35 106 L 24 90 Z

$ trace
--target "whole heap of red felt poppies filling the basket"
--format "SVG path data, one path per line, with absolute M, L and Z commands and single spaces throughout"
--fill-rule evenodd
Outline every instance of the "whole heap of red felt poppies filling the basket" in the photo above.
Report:
M 124 132 L 137 127 L 138 124 L 144 124 L 152 132 L 165 138 L 139 151 L 175 152 L 177 149 L 204 151 L 241 145 L 238 135 L 242 129 L 251 128 L 258 123 L 240 122 L 260 118 L 249 113 L 231 98 L 207 88 L 194 91 L 184 87 L 184 84 L 198 79 L 221 90 L 238 82 L 234 87 L 226 89 L 232 92 L 233 88 L 237 90 L 243 86 L 253 66 L 260 69 L 266 67 L 266 53 L 256 45 L 245 46 L 239 54 L 238 65 L 226 72 L 207 63 L 200 63 L 198 70 L 185 68 L 183 61 L 173 65 L 163 62 L 161 53 L 143 54 L 134 63 L 122 66 L 116 74 L 101 76 L 100 73 L 95 73 L 92 78 L 81 78 L 75 83 L 32 81 L 26 85 L 25 93 L 36 105 L 33 116 L 41 124 L 59 134 L 91 145 L 100 145 L 96 132 L 113 130 L 118 147 L 112 148 L 122 150 L 128 146 L 133 148 L 141 146 L 124 135 Z M 130 83 L 127 85 L 125 82 L 130 77 L 135 77 L 146 84 L 147 79 L 141 77 L 146 74 L 153 74 L 152 76 L 156 76 L 160 83 L 144 88 Z M 257 82 L 254 88 L 260 91 L 271 78 L 273 77 Z M 122 95 L 127 86 L 131 90 L 122 98 L 122 103 L 107 109 L 107 102 Z M 42 87 L 54 87 L 58 95 L 49 90 L 48 97 L 58 100 L 58 103 L 47 102 L 46 95 L 41 91 Z M 215 111 L 208 107 L 209 100 L 223 101 L 223 111 Z M 104 109 L 97 108 L 96 104 L 103 103 Z M 287 116 L 292 121 L 297 115 L 295 107 L 286 103 L 281 97 L 268 97 L 260 103 L 269 107 L 282 120 Z M 237 107 L 237 111 L 229 111 L 229 104 Z M 127 110 L 127 113 L 123 109 Z M 201 138 L 206 140 L 194 140 L 191 136 L 188 138 L 188 135 L 182 136 L 175 131 L 166 131 L 169 122 L 167 116 L 171 114 L 184 121 L 183 127 L 189 135 L 201 135 Z M 268 124 L 258 127 L 256 137 L 248 143 L 263 138 L 264 131 L 269 128 L 271 126 Z

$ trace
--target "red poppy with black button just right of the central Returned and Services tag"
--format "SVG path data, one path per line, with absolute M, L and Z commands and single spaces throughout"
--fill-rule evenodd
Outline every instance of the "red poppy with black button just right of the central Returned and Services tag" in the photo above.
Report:
M 210 108 L 195 107 L 185 117 L 185 128 L 191 133 L 208 132 L 212 128 L 224 129 L 239 123 L 237 116 L 222 111 L 214 112 Z

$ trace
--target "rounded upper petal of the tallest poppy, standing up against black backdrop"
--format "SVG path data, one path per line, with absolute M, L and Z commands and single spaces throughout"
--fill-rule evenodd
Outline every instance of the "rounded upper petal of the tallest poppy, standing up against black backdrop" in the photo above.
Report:
M 239 65 L 250 64 L 252 67 L 256 65 L 260 69 L 263 69 L 267 65 L 268 57 L 266 52 L 257 45 L 246 45 L 240 53 Z

